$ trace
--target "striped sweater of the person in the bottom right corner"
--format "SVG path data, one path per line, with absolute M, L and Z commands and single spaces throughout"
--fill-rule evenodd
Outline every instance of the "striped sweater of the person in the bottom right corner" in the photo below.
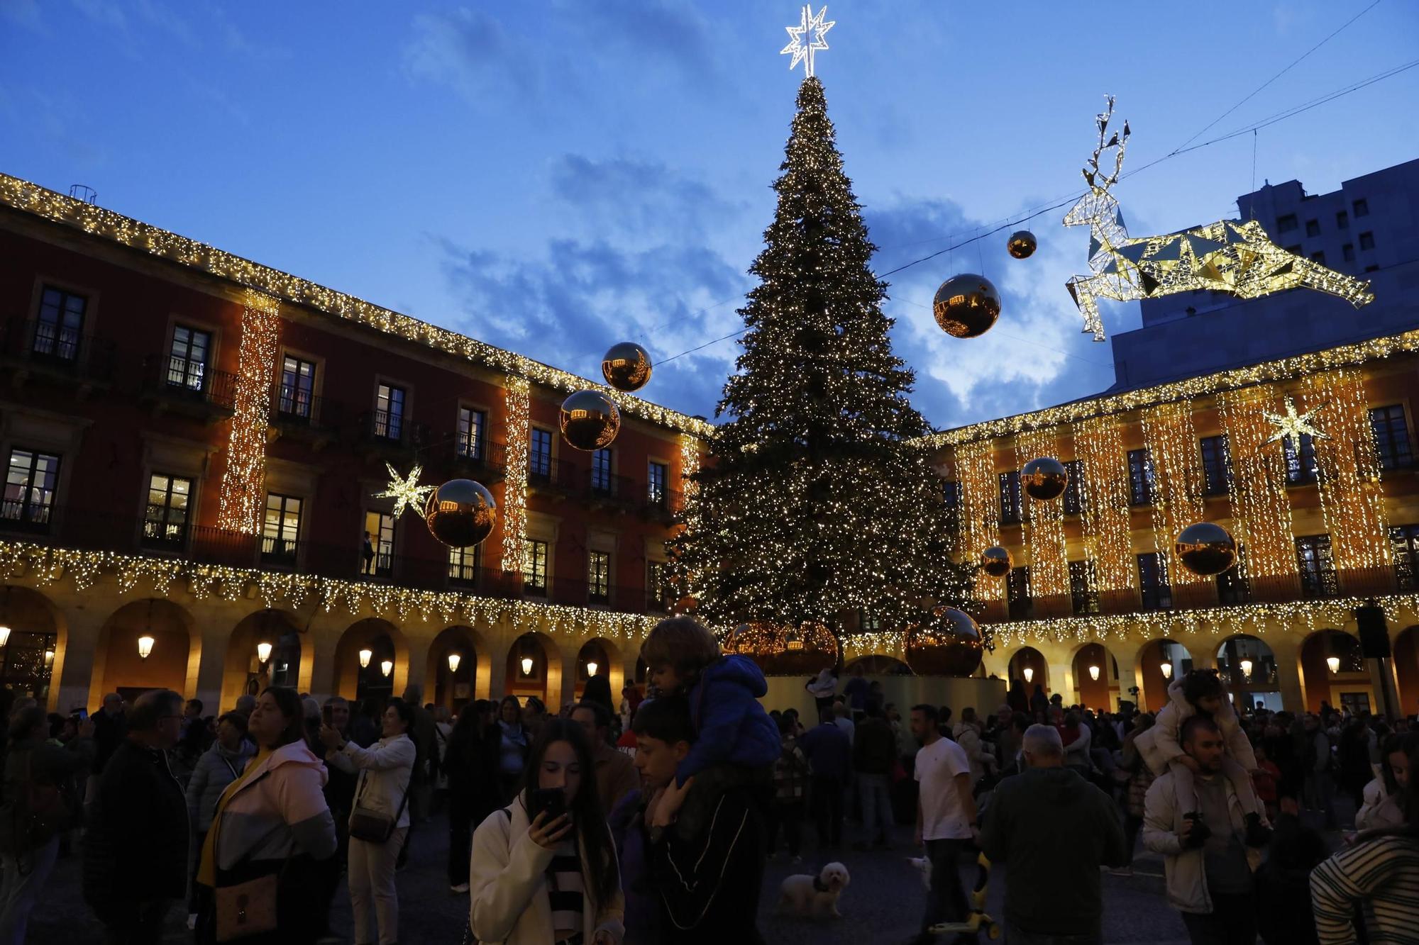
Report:
M 1419 945 L 1419 839 L 1375 837 L 1315 867 L 1311 905 L 1321 945 L 1357 941 L 1357 904 L 1371 945 Z

